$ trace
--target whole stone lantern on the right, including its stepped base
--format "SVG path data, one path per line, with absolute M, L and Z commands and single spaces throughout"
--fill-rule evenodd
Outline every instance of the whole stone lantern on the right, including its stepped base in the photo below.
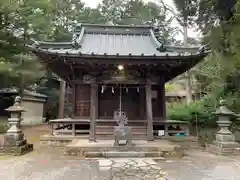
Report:
M 230 118 L 235 114 L 225 106 L 223 100 L 220 101 L 220 108 L 215 114 L 218 116 L 217 123 L 220 129 L 216 134 L 216 140 L 208 145 L 207 149 L 216 154 L 240 155 L 240 144 L 235 141 L 235 136 L 229 130 L 232 124 Z

